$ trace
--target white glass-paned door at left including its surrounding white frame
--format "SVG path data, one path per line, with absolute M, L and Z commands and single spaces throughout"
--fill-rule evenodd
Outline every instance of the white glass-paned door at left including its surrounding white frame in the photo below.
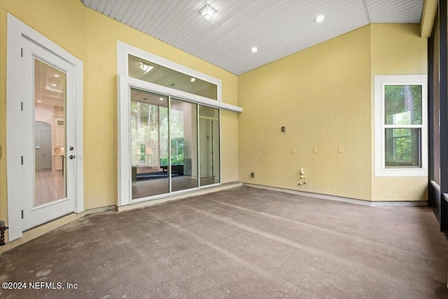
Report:
M 8 241 L 12 241 L 36 225 L 84 210 L 83 62 L 7 15 Z

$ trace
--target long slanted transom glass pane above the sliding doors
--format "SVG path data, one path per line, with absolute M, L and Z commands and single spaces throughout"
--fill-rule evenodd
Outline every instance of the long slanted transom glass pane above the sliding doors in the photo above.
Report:
M 189 92 L 193 95 L 200 95 L 201 97 L 208 97 L 209 99 L 218 99 L 217 85 L 132 55 L 128 56 L 128 73 L 132 78 Z

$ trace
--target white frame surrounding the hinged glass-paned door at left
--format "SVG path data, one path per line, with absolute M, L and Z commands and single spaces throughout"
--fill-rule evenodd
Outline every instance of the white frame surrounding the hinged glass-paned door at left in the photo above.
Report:
M 84 210 L 83 179 L 83 62 L 57 44 L 8 13 L 7 68 L 6 68 L 6 153 L 8 179 L 8 241 L 22 237 L 22 167 L 20 165 L 21 126 L 21 53 L 25 39 L 72 64 L 75 71 L 76 102 L 76 190 L 75 212 Z M 16 166 L 17 165 L 17 166 Z

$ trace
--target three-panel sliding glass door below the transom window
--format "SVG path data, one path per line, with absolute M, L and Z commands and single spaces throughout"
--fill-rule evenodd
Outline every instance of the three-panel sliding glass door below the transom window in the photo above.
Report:
M 132 200 L 221 182 L 219 110 L 130 89 Z

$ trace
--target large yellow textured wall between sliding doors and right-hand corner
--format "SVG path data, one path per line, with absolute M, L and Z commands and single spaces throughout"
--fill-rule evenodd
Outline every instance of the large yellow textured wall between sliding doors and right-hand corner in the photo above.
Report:
M 238 101 L 240 181 L 370 200 L 370 27 L 240 75 Z

